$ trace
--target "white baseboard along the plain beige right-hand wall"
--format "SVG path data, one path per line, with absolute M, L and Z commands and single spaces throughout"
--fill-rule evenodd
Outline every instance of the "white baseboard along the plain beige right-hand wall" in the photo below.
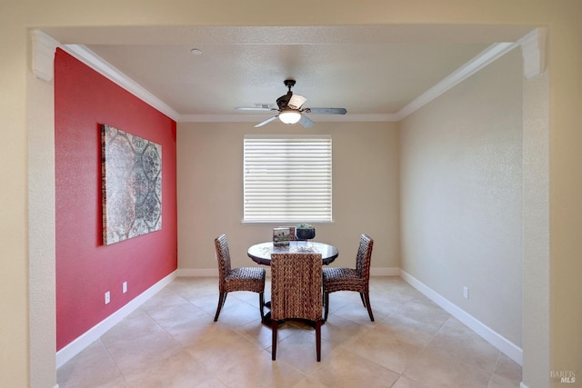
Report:
M 456 304 L 449 302 L 439 293 L 436 293 L 431 288 L 426 286 L 426 284 L 418 281 L 414 276 L 407 274 L 405 271 L 400 271 L 400 277 L 402 277 L 406 283 L 415 287 L 416 290 L 424 293 L 426 297 L 437 303 L 448 313 L 457 318 L 460 322 L 465 323 L 471 330 L 483 337 L 483 339 L 485 339 L 488 343 L 491 343 L 493 346 L 495 346 L 500 352 L 505 353 L 507 357 L 523 366 L 523 350 L 515 343 L 510 342 L 503 335 L 500 335 L 499 333 L 490 329 L 487 327 L 487 325 L 481 323 L 479 320 L 477 320 L 477 318 L 465 312 Z M 522 388 L 524 387 L 525 385 Z

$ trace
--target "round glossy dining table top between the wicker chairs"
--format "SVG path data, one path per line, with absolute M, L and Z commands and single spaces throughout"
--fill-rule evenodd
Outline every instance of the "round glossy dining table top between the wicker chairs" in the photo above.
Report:
M 330 264 L 336 260 L 337 248 L 334 245 L 315 241 L 290 241 L 288 245 L 275 246 L 272 241 L 255 244 L 248 248 L 246 254 L 255 263 L 271 265 L 271 254 L 321 254 L 321 263 Z

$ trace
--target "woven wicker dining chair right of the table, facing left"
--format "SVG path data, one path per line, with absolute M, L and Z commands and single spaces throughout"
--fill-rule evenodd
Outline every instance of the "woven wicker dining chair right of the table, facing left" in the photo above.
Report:
M 355 291 L 360 293 L 362 303 L 367 308 L 370 320 L 374 322 L 374 314 L 370 305 L 370 262 L 372 260 L 372 248 L 374 240 L 366 234 L 360 236 L 360 244 L 356 254 L 356 268 L 324 268 L 324 306 L 326 313 L 324 320 L 327 320 L 329 312 L 329 294 L 336 291 Z

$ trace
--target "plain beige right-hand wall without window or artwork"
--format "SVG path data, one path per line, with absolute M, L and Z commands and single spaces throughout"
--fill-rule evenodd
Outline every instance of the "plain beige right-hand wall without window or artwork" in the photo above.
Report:
M 519 347 L 522 74 L 516 49 L 401 123 L 402 269 Z

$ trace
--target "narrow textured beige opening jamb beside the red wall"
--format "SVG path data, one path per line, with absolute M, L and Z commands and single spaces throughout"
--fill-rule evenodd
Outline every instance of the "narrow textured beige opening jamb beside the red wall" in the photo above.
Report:
M 33 75 L 28 75 L 33 81 Z M 45 123 L 55 122 L 55 106 L 52 83 L 28 82 L 31 98 L 30 109 L 28 165 L 28 203 L 29 235 L 28 249 L 30 262 L 34 263 L 28 270 L 29 322 L 30 322 L 30 385 L 43 386 L 49 378 L 56 378 L 55 349 L 55 223 L 49 215 L 55 209 L 55 132 L 47 130 Z M 48 104 L 47 104 L 48 102 Z M 34 112 L 34 114 L 32 114 Z

